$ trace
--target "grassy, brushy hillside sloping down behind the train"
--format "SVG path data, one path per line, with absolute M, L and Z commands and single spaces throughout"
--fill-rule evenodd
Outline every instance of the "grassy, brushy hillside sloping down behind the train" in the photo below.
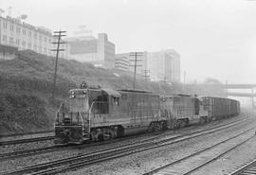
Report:
M 55 103 L 51 100 L 54 59 L 21 51 L 17 59 L 0 61 L 0 133 L 53 129 L 55 112 L 71 88 L 82 81 L 105 88 L 132 89 L 133 75 L 60 59 Z M 137 89 L 160 94 L 182 92 L 183 86 L 137 78 Z

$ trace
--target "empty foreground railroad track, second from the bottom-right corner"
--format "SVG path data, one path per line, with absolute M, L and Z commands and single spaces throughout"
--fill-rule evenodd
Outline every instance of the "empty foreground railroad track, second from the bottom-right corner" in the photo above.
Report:
M 243 145 L 244 143 L 246 143 L 248 140 L 250 140 L 251 138 L 253 138 L 255 135 L 254 133 L 252 133 L 249 137 L 247 137 L 246 139 L 244 139 L 242 142 L 239 142 L 238 144 L 230 144 L 230 147 L 225 151 L 217 151 L 218 153 L 216 154 L 216 150 L 214 151 L 214 149 L 221 149 L 220 145 L 223 144 L 228 144 L 229 141 L 232 141 L 233 139 L 247 133 L 248 131 L 251 131 L 255 129 L 255 127 L 247 129 L 246 131 L 242 131 L 232 137 L 229 137 L 228 139 L 225 139 L 223 141 L 220 141 L 208 148 L 205 149 L 200 149 L 190 155 L 184 156 L 181 159 L 178 159 L 174 162 L 171 162 L 169 164 L 166 164 L 164 166 L 160 166 L 157 167 L 147 173 L 144 173 L 143 175 L 164 175 L 164 174 L 183 174 L 183 175 L 188 175 L 191 174 L 192 172 L 200 169 L 203 166 L 206 166 L 208 164 L 210 164 L 211 162 L 219 159 L 221 156 L 227 154 L 229 151 L 236 149 L 237 147 Z M 211 156 L 209 151 L 211 151 Z M 214 152 L 212 152 L 214 151 Z M 221 152 L 221 153 L 219 153 Z M 214 154 L 215 153 L 215 154 Z M 255 161 L 256 162 L 256 161 Z M 199 164 L 198 164 L 199 163 Z M 197 164 L 194 166 L 194 164 Z M 190 167 L 192 166 L 192 167 Z M 256 163 L 255 163 L 256 166 Z M 255 171 L 256 172 L 256 171 Z M 234 174 L 232 174 L 234 175 Z M 235 174 L 237 175 L 237 174 Z

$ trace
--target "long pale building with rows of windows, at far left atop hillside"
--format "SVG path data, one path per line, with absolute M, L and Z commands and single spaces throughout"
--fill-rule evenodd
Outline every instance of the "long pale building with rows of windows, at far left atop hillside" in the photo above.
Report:
M 52 41 L 51 31 L 44 26 L 32 26 L 19 18 L 0 16 L 0 44 L 52 56 Z

